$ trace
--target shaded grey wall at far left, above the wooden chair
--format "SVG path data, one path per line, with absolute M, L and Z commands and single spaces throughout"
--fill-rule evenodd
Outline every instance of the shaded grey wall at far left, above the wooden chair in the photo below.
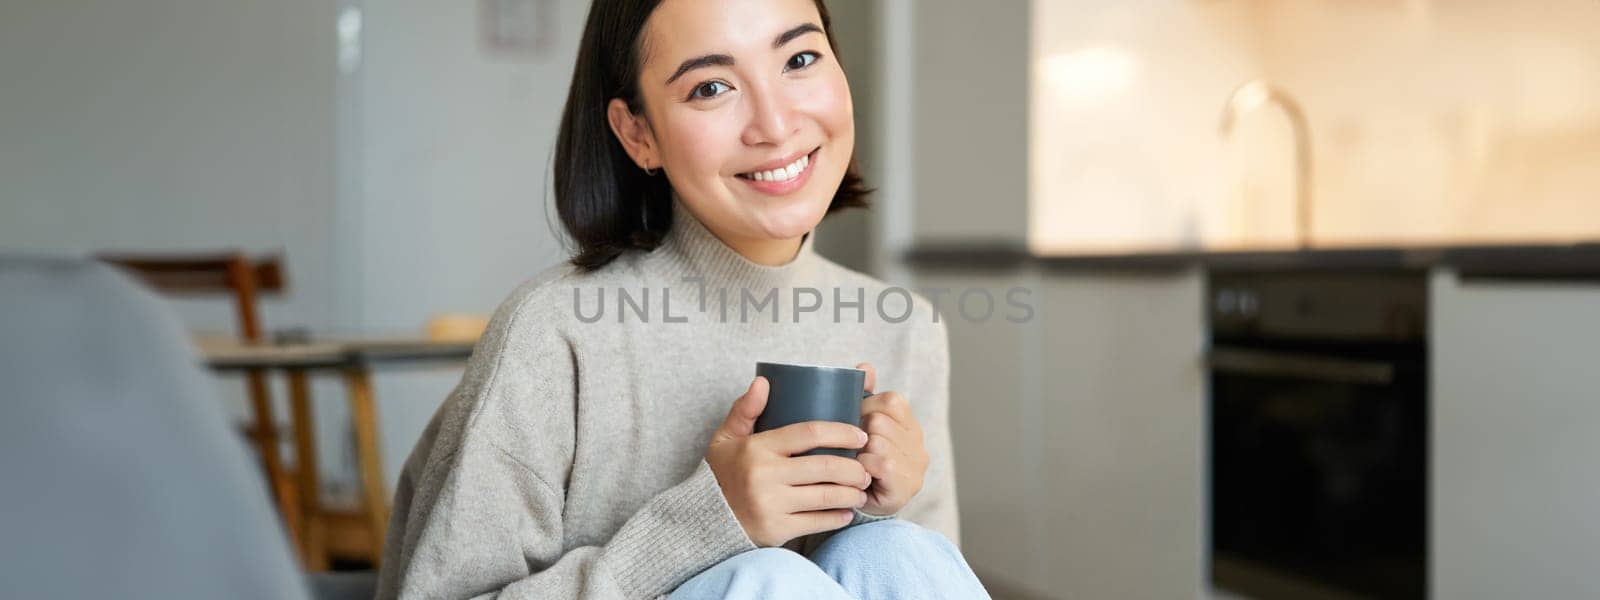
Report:
M 0 250 L 283 253 L 264 326 L 334 326 L 331 22 L 309 0 L 0 3 Z M 226 299 L 174 304 L 235 330 Z M 218 392 L 245 414 L 238 379 Z

